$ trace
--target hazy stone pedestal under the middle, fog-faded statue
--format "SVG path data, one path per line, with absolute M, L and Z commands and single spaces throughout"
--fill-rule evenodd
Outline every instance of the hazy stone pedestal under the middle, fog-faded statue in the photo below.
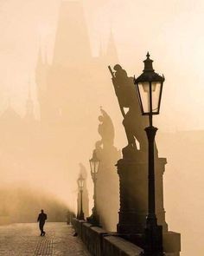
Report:
M 100 224 L 107 231 L 116 231 L 119 208 L 119 182 L 115 163 L 121 157 L 115 147 L 97 148 L 99 172 L 96 182 L 97 210 Z M 108 206 L 105 202 L 108 202 Z

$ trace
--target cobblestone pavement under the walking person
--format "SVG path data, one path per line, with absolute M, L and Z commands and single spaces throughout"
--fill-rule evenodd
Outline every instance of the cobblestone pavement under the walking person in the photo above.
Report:
M 0 256 L 91 256 L 73 228 L 66 223 L 46 223 L 39 236 L 37 223 L 0 226 Z

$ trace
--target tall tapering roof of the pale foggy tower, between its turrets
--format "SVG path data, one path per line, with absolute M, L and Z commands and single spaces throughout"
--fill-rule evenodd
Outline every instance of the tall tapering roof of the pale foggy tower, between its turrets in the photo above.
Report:
M 54 45 L 53 63 L 64 67 L 87 62 L 91 59 L 91 47 L 82 3 L 61 2 Z

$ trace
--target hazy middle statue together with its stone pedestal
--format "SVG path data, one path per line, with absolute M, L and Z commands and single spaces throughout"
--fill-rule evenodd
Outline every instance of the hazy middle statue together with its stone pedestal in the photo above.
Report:
M 114 146 L 115 130 L 112 118 L 103 108 L 100 108 L 98 132 L 99 140 L 95 143 L 95 153 L 99 159 L 95 184 L 97 219 L 103 228 L 115 232 L 119 208 L 119 181 L 115 165 L 121 154 Z M 107 208 L 105 202 L 112 207 Z

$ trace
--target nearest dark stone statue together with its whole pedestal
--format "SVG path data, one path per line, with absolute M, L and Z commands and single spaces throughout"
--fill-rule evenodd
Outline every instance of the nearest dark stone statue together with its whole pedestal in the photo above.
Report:
M 123 149 L 123 158 L 119 159 L 116 165 L 120 199 L 117 232 L 136 245 L 144 245 L 149 200 L 148 138 L 144 128 L 149 126 L 149 120 L 147 115 L 141 113 L 133 77 L 129 77 L 118 64 L 114 66 L 114 71 L 110 66 L 109 70 L 112 73 L 112 83 L 124 117 L 123 125 L 128 141 L 127 147 Z M 172 255 L 177 256 L 181 250 L 180 234 L 168 232 L 163 207 L 163 173 L 166 163 L 165 158 L 158 157 L 155 144 L 156 217 L 158 224 L 163 226 L 165 252 L 167 254 L 172 252 Z

